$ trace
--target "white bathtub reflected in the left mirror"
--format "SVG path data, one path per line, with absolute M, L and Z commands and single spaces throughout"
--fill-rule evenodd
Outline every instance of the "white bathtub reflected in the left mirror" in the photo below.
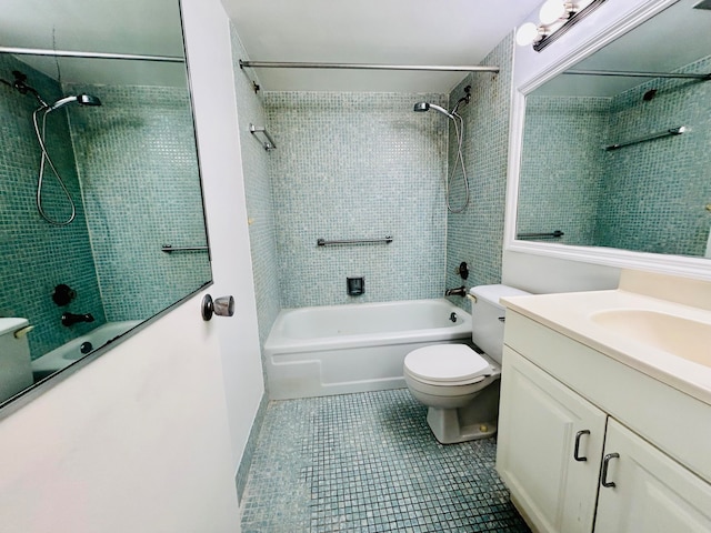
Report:
M 89 333 L 62 344 L 51 352 L 47 352 L 44 355 L 32 361 L 32 375 L 34 376 L 34 381 L 37 382 L 42 380 L 48 375 L 62 370 L 64 366 L 69 366 L 78 359 L 81 359 L 98 348 L 103 346 L 107 342 L 122 335 L 140 323 L 141 321 L 139 320 L 107 322 L 106 324 L 101 324 L 99 328 L 91 330 Z M 81 346 L 84 343 L 90 343 L 91 346 L 84 345 L 86 353 L 82 353 Z

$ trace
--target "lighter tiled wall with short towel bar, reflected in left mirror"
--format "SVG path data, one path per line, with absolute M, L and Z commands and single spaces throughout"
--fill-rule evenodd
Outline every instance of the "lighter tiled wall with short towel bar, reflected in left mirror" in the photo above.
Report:
M 107 320 L 143 320 L 211 279 L 188 90 L 69 86 L 70 122 Z

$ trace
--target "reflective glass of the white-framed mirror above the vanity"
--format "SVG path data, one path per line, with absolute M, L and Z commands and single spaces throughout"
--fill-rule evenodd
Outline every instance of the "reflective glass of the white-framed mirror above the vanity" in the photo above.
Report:
M 517 239 L 711 255 L 709 28 L 682 0 L 525 95 Z

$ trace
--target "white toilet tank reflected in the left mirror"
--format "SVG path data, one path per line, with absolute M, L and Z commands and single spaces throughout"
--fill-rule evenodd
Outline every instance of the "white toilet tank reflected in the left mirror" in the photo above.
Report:
M 0 319 L 0 402 L 33 383 L 27 326 L 26 319 Z

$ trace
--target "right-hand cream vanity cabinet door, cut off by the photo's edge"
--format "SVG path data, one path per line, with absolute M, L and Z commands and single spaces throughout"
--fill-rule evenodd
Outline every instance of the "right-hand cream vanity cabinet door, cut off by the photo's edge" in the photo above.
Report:
M 605 462 L 595 532 L 711 531 L 711 485 L 613 419 Z

